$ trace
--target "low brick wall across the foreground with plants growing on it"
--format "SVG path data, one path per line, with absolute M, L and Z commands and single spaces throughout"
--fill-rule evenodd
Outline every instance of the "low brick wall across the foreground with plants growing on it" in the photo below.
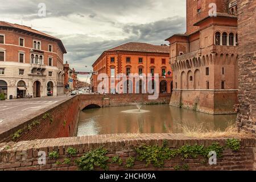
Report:
M 75 159 L 84 155 L 85 152 L 97 149 L 104 146 L 108 150 L 110 158 L 119 156 L 123 161 L 126 161 L 129 156 L 136 156 L 134 147 L 141 144 L 161 145 L 163 140 L 167 140 L 170 148 L 180 148 L 186 144 L 210 146 L 212 143 L 225 144 L 225 138 L 215 139 L 197 139 L 188 138 L 182 134 L 112 134 L 98 135 L 90 137 L 74 137 L 74 138 L 58 138 L 33 140 L 19 143 L 1 143 L 0 144 L 0 171 L 24 171 L 24 170 L 59 170 L 73 171 L 77 170 Z M 71 164 L 56 164 L 56 161 L 62 163 L 67 158 L 67 148 L 76 148 L 77 155 L 71 158 Z M 46 165 L 38 164 L 38 152 L 45 151 L 47 154 Z M 52 151 L 59 152 L 59 158 L 52 160 L 48 158 L 48 154 Z M 202 164 L 203 158 L 185 159 L 180 157 L 168 160 L 163 168 L 154 168 L 153 166 L 146 167 L 144 162 L 135 162 L 131 169 L 135 170 L 174 170 L 174 167 L 181 163 L 187 163 L 189 170 L 253 170 L 255 153 L 255 139 L 241 139 L 241 148 L 239 151 L 224 150 L 223 157 L 217 159 L 217 165 L 210 166 Z M 110 171 L 127 170 L 125 167 L 120 167 L 118 164 L 111 164 Z M 255 168 L 254 168 L 255 169 Z

